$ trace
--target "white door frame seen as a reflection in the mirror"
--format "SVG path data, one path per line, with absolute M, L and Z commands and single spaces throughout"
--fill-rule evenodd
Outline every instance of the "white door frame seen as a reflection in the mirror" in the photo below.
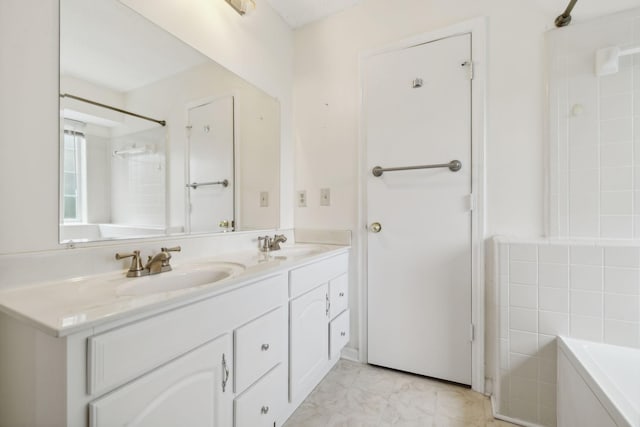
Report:
M 189 135 L 187 126 L 189 124 L 189 111 L 194 108 L 202 107 L 220 99 L 231 97 L 232 99 L 232 114 L 233 114 L 233 221 L 234 229 L 238 228 L 238 212 L 240 212 L 240 197 L 238 197 L 239 185 L 240 185 L 240 161 L 238 153 L 240 152 L 240 124 L 238 123 L 238 112 L 240 96 L 237 90 L 221 92 L 214 96 L 207 96 L 204 98 L 198 98 L 190 100 L 184 104 L 184 126 L 185 126 L 185 144 L 184 144 L 184 228 L 185 233 L 191 233 L 191 212 L 189 206 L 191 204 L 191 198 L 189 194 L 189 188 L 186 184 L 189 184 L 190 178 L 190 166 L 189 159 L 191 156 L 191 136 Z M 168 204 L 168 203 L 167 203 Z M 210 232 L 209 232 L 210 233 Z M 199 233 L 202 234 L 202 233 Z

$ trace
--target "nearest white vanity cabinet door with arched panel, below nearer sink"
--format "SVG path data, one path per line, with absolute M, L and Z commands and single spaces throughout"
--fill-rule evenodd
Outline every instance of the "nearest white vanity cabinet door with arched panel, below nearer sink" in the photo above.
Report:
M 224 335 L 89 404 L 91 427 L 230 427 L 231 337 Z

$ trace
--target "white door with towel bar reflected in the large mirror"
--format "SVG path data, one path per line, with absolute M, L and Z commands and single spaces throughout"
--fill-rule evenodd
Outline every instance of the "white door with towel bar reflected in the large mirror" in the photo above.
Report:
M 233 97 L 189 109 L 188 128 L 190 231 L 230 231 L 234 220 Z

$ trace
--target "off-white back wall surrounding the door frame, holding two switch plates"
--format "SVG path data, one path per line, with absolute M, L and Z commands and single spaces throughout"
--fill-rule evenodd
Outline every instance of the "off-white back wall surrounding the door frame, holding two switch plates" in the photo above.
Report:
M 307 207 L 295 207 L 301 228 L 351 229 L 351 346 L 358 324 L 361 273 L 359 223 L 359 55 L 413 35 L 488 16 L 486 127 L 486 234 L 539 236 L 544 197 L 544 32 L 553 18 L 529 1 L 364 0 L 295 33 L 295 190 Z M 477 59 L 476 59 L 477 60 Z M 392 143 L 392 142 L 390 142 Z M 331 189 L 331 206 L 319 189 Z

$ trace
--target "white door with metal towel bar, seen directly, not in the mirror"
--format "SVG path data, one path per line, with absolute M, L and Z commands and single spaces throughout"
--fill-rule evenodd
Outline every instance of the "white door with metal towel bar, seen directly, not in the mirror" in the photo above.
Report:
M 470 52 L 471 36 L 459 35 L 370 57 L 364 70 L 369 363 L 463 384 L 471 384 Z M 452 160 L 462 168 L 371 172 Z

